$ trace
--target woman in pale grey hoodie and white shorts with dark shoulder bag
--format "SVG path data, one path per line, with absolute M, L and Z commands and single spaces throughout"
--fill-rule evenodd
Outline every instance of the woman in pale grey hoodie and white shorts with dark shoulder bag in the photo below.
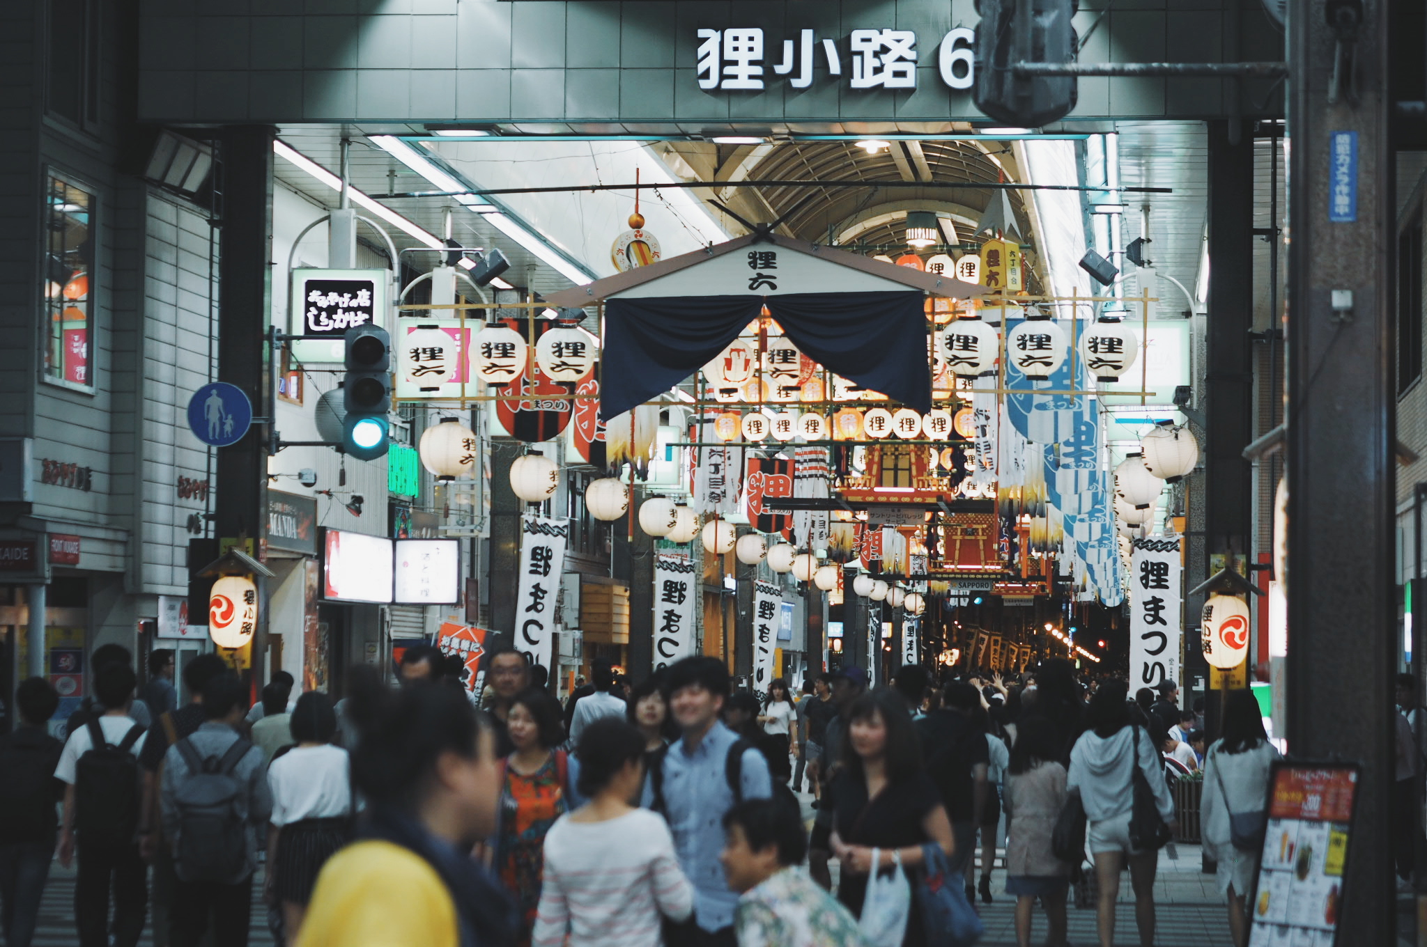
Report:
M 1130 722 L 1124 703 L 1127 693 L 1123 680 L 1107 680 L 1095 692 L 1085 717 L 1089 729 L 1070 752 L 1066 783 L 1067 790 L 1080 790 L 1085 806 L 1086 847 L 1095 859 L 1100 886 L 1096 911 L 1100 947 L 1114 944 L 1114 901 L 1126 861 L 1134 889 L 1140 947 L 1154 946 L 1156 849 L 1174 826 L 1174 800 L 1164 784 L 1164 763 L 1149 732 Z M 1146 831 L 1150 821 L 1157 831 Z

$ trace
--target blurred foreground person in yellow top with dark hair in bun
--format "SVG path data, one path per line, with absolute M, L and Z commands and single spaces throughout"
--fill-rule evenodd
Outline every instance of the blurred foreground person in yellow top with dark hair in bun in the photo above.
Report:
M 358 841 L 323 866 L 297 947 L 514 944 L 515 903 L 469 856 L 495 829 L 491 725 L 454 687 L 394 692 L 375 675 L 347 710 L 371 812 Z

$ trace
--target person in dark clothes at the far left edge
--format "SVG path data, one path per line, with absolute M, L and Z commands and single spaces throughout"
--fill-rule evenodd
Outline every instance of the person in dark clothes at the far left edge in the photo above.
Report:
M 54 767 L 64 744 L 46 730 L 60 706 L 49 680 L 21 682 L 14 702 L 20 726 L 0 736 L 0 904 L 4 943 L 30 947 L 54 857 L 54 803 L 64 796 Z

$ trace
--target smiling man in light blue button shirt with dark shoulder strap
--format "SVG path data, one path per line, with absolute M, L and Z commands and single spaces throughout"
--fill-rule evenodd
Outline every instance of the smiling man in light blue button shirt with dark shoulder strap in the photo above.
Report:
M 644 806 L 661 812 L 674 834 L 679 867 L 694 884 L 694 916 L 666 931 L 665 943 L 681 947 L 735 947 L 733 910 L 738 894 L 719 866 L 723 813 L 748 799 L 771 799 L 773 782 L 763 754 L 748 746 L 729 772 L 738 734 L 719 722 L 729 696 L 728 667 L 716 657 L 685 657 L 665 679 L 669 712 L 682 739 L 649 764 Z

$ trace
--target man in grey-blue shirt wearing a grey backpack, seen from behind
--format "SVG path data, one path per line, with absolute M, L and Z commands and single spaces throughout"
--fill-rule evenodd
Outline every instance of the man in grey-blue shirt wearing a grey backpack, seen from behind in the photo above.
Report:
M 217 947 L 247 947 L 258 831 L 273 800 L 263 750 L 241 736 L 247 692 L 225 672 L 203 689 L 207 720 L 164 754 L 160 790 L 174 873 L 170 943 L 197 947 L 213 918 Z

